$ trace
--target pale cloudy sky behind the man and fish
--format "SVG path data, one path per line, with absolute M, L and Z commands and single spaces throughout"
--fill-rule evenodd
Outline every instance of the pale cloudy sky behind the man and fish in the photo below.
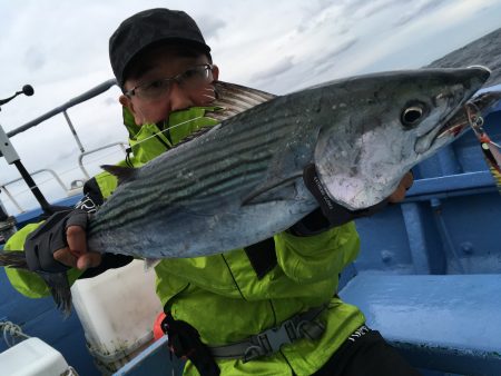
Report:
M 276 95 L 355 75 L 415 69 L 498 29 L 501 0 L 0 0 L 0 99 L 29 83 L 31 97 L 1 106 L 4 131 L 112 78 L 108 39 L 127 17 L 149 8 L 185 10 L 200 27 L 219 79 Z M 126 142 L 119 90 L 68 110 L 86 151 Z M 79 149 L 59 115 L 11 139 L 49 200 L 84 179 Z M 124 159 L 118 147 L 82 159 L 90 175 Z M 19 177 L 0 158 L 0 186 Z M 23 182 L 7 185 L 22 209 L 37 206 Z M 3 190 L 10 214 L 19 210 Z

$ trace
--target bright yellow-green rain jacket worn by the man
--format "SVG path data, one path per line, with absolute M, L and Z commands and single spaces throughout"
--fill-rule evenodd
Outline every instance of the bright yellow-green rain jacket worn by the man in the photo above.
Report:
M 160 155 L 194 130 L 216 121 L 205 117 L 215 108 L 191 108 L 171 113 L 169 135 L 156 125 L 138 127 L 127 111 L 125 125 L 130 133 L 134 156 L 129 164 L 138 167 Z M 156 135 L 156 136 L 155 136 Z M 121 162 L 125 164 L 125 162 Z M 116 188 L 108 172 L 95 177 L 104 198 Z M 26 237 L 38 225 L 28 225 L 6 245 L 21 249 Z M 321 368 L 340 345 L 365 319 L 354 306 L 335 297 L 341 270 L 353 261 L 360 248 L 355 226 L 348 222 L 322 234 L 296 237 L 288 232 L 274 236 L 277 263 L 258 278 L 244 249 L 197 258 L 165 259 L 156 267 L 157 294 L 175 319 L 189 323 L 205 344 L 220 346 L 240 342 L 289 317 L 327 304 L 320 319 L 326 329 L 317 340 L 298 339 L 283 345 L 274 355 L 254 359 L 218 360 L 222 375 L 311 375 Z M 47 296 L 47 286 L 37 275 L 7 269 L 14 288 L 29 297 Z M 70 283 L 81 271 L 68 271 Z M 188 362 L 186 375 L 197 375 Z

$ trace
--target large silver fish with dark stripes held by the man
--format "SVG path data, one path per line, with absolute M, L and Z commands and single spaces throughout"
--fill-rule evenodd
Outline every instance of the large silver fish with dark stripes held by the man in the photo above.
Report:
M 218 82 L 218 100 L 228 108 L 237 98 L 239 109 L 140 168 L 104 167 L 119 186 L 90 217 L 88 248 L 156 260 L 256 244 L 318 207 L 303 181 L 311 164 L 334 202 L 372 207 L 469 129 L 469 103 L 492 105 L 473 98 L 489 75 L 377 72 L 284 96 Z M 22 267 L 12 254 L 0 266 Z

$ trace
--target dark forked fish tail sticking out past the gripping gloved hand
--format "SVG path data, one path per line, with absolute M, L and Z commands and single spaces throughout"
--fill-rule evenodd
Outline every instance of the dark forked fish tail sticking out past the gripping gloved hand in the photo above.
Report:
M 21 250 L 0 251 L 0 267 L 9 267 L 21 270 L 29 270 L 26 261 L 26 254 Z M 65 317 L 71 311 L 71 290 L 66 273 L 43 273 L 37 271 L 50 289 L 53 301 Z

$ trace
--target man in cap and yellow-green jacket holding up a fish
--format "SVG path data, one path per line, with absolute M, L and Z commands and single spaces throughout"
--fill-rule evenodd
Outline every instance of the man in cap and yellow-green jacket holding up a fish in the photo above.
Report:
M 217 122 L 210 113 L 219 110 L 212 106 L 219 70 L 186 13 L 151 9 L 125 20 L 110 38 L 110 61 L 124 92 L 119 101 L 134 151 L 124 164 L 140 166 Z M 314 176 L 313 166 L 305 169 L 305 184 L 315 195 Z M 81 210 L 95 210 L 116 184 L 107 172 L 98 175 L 86 184 L 77 210 L 42 225 L 66 237 L 66 247 L 40 239 L 32 232 L 38 225 L 31 225 L 6 249 L 19 249 L 28 237 L 27 254 L 37 247 L 40 265 L 71 267 L 70 283 L 127 264 L 130 257 L 101 256 L 86 246 Z M 411 185 L 407 175 L 389 201 L 402 200 Z M 157 294 L 167 313 L 163 327 L 176 354 L 190 359 L 186 374 L 418 375 L 377 332 L 364 326 L 356 307 L 335 295 L 338 274 L 358 253 L 351 219 L 360 214 L 341 208 L 332 212 L 320 205 L 287 231 L 257 245 L 210 257 L 165 259 L 155 267 Z M 31 273 L 9 269 L 8 275 L 29 296 L 47 294 Z

